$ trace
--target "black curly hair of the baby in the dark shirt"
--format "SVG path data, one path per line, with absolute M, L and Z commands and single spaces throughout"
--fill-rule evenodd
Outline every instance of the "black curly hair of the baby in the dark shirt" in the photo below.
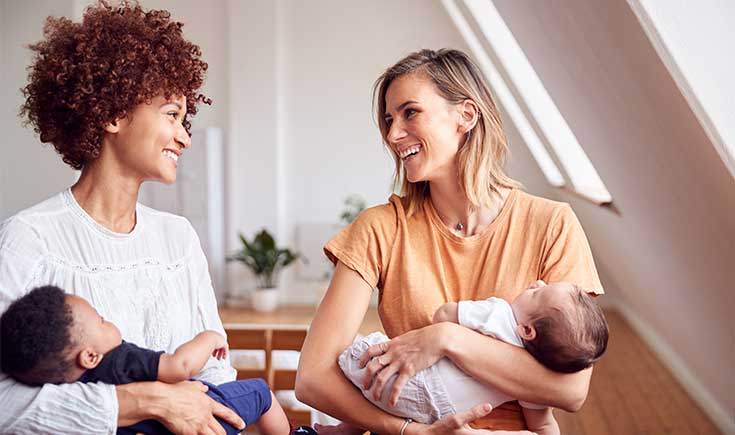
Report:
M 54 286 L 37 287 L 16 300 L 0 317 L 2 371 L 28 385 L 61 384 L 74 360 L 74 316 L 66 294 Z

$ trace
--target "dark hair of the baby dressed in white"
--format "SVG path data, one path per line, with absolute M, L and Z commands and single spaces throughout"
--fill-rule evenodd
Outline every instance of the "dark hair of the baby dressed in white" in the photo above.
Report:
M 575 286 L 572 303 L 546 307 L 531 320 L 536 338 L 524 341 L 526 350 L 556 372 L 575 373 L 595 363 L 607 348 L 605 315 L 592 296 Z

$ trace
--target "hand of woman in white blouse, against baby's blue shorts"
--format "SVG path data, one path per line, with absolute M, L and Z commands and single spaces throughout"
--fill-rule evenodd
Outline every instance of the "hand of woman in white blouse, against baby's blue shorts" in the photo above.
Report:
M 238 429 L 245 428 L 245 422 L 234 411 L 204 394 L 208 387 L 201 382 L 161 384 L 161 387 L 164 408 L 158 420 L 176 435 L 225 435 L 215 417 Z

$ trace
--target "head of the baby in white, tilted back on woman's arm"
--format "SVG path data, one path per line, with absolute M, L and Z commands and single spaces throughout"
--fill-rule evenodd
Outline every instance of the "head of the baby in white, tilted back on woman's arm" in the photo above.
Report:
M 526 350 L 551 370 L 584 370 L 607 348 L 605 316 L 592 297 L 576 285 L 531 286 L 511 306 Z

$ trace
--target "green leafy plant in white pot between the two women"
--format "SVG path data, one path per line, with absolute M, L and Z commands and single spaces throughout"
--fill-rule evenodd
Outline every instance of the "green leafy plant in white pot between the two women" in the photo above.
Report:
M 255 275 L 257 286 L 252 293 L 256 311 L 273 311 L 278 306 L 278 278 L 281 270 L 299 258 L 289 249 L 279 248 L 268 230 L 262 229 L 252 241 L 240 234 L 242 249 L 227 256 L 227 261 L 239 261 Z

